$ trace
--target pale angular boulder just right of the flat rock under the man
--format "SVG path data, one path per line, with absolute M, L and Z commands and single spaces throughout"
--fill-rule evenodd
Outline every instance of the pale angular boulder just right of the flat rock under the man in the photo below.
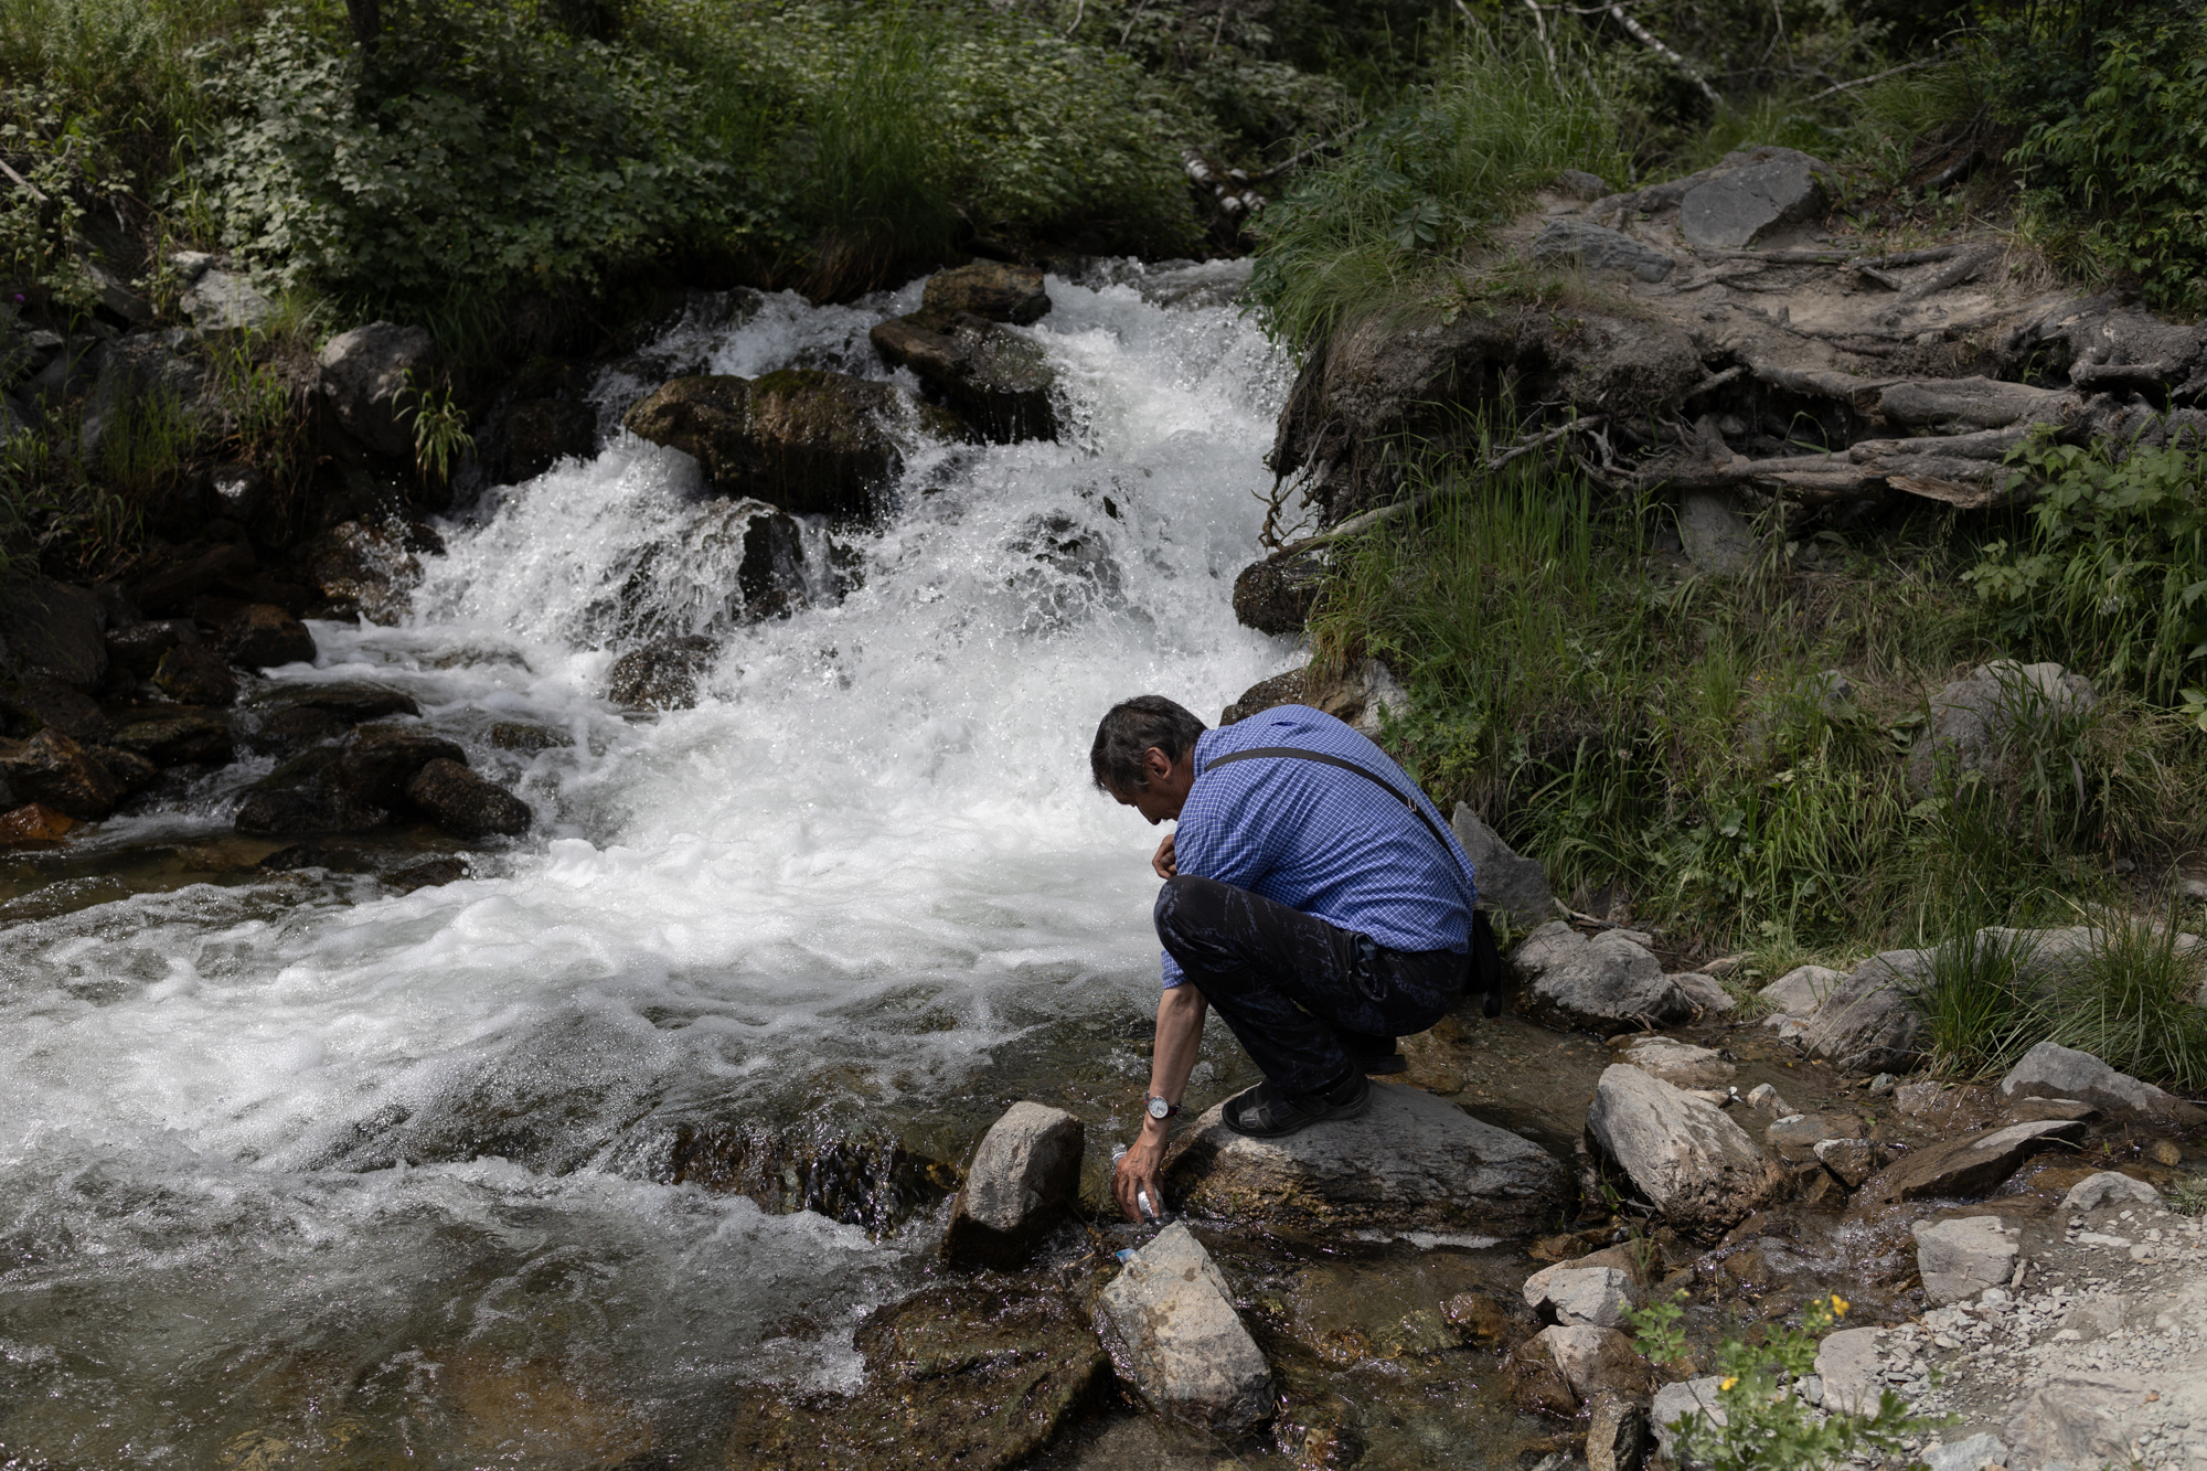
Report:
M 1721 1109 L 1622 1062 L 1602 1069 L 1587 1133 L 1684 1230 L 1726 1230 L 1785 1182 Z

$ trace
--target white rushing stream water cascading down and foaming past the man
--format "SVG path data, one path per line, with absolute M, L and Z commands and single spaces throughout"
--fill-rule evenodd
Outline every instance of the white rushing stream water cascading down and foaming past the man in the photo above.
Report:
M 956 1160 L 1006 1058 L 1152 1005 L 1154 835 L 1090 789 L 1095 718 L 1209 713 L 1291 654 L 1229 610 L 1282 369 L 1234 307 L 1119 276 L 1053 278 L 1031 329 L 1066 440 L 914 453 L 839 532 L 836 605 L 733 627 L 726 506 L 616 437 L 446 526 L 406 625 L 316 625 L 320 667 L 276 678 L 402 687 L 530 800 L 479 877 L 7 930 L 0 1460 L 620 1460 L 706 1436 L 731 1383 L 856 1374 L 927 1235 L 883 1182 Z M 865 329 L 916 292 L 660 349 L 892 378 Z M 600 409 L 649 387 L 609 373 Z M 823 588 L 825 528 L 806 552 Z M 695 709 L 600 698 L 622 618 L 724 636 Z M 492 749 L 497 720 L 572 744 Z M 110 826 L 218 828 L 254 771 Z M 702 1188 L 706 1144 L 783 1213 Z

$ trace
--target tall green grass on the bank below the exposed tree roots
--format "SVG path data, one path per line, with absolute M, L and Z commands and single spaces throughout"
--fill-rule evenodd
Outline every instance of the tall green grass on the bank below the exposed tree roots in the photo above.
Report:
M 1412 490 L 1448 488 L 1448 464 Z M 1827 541 L 1814 572 L 1651 561 L 1655 506 L 1540 466 L 1459 484 L 1344 543 L 1313 658 L 1384 658 L 1415 709 L 1386 744 L 1479 808 L 1558 895 L 1622 883 L 1710 950 L 1861 954 L 2059 921 L 2207 837 L 2207 742 L 2112 694 L 1977 773 L 1911 791 L 1931 694 L 2002 647 L 1942 515 Z M 1827 671 L 1852 698 L 1823 700 Z

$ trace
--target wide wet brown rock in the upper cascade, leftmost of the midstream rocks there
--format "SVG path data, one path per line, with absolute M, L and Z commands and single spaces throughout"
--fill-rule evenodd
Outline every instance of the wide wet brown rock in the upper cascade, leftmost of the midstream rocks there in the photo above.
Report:
M 892 384 L 786 369 L 759 378 L 675 378 L 629 409 L 629 433 L 697 459 L 719 495 L 797 515 L 867 515 L 905 464 Z M 945 428 L 940 417 L 923 428 Z

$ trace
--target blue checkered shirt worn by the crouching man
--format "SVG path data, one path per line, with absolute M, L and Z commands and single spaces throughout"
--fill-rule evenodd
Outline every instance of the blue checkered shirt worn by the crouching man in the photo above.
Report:
M 1232 751 L 1324 751 L 1410 793 L 1448 853 L 1401 802 L 1355 771 L 1293 755 L 1205 769 Z M 1368 934 L 1388 950 L 1472 948 L 1472 859 L 1439 808 L 1386 751 L 1309 705 L 1278 705 L 1196 738 L 1196 784 L 1172 835 L 1179 872 L 1247 888 L 1273 903 Z M 1165 956 L 1165 990 L 1185 981 Z

